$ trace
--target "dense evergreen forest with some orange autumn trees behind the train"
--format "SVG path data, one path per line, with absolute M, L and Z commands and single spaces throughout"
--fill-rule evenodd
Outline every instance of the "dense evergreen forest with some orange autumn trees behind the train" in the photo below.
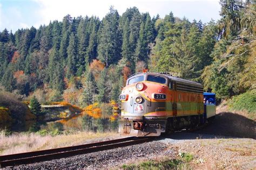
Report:
M 5 29 L 0 92 L 20 101 L 35 96 L 41 104 L 64 101 L 80 108 L 118 104 L 127 77 L 147 68 L 200 82 L 219 102 L 229 99 L 231 108 L 255 113 L 256 4 L 219 3 L 221 18 L 208 23 L 172 12 L 151 17 L 136 7 L 120 15 L 111 6 L 102 20 L 66 15 L 38 29 Z M 17 119 L 4 103 L 2 97 L 0 117 Z

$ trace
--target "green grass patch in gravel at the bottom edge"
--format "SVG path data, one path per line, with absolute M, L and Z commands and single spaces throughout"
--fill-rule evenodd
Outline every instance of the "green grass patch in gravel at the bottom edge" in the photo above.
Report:
M 193 155 L 190 153 L 179 153 L 177 159 L 164 160 L 148 160 L 139 164 L 124 164 L 122 169 L 191 169 L 189 162 L 193 160 Z

